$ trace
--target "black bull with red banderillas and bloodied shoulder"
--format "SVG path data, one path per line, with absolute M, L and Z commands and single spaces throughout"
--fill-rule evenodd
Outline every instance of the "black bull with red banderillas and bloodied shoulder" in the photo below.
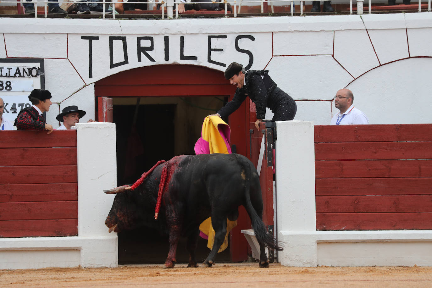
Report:
M 190 255 L 188 267 L 198 266 L 195 258 L 198 228 L 210 216 L 216 233 L 213 248 L 203 264 L 212 266 L 225 238 L 226 219 L 236 220 L 240 205 L 248 212 L 260 244 L 259 266 L 269 266 L 266 246 L 282 250 L 266 232 L 262 221 L 263 200 L 257 170 L 242 155 L 181 155 L 155 165 L 154 170 L 143 174 L 140 180 L 142 183 L 134 184 L 132 189 L 124 185 L 104 191 L 117 194 L 105 225 L 110 232 L 143 225 L 166 228 L 169 234 L 169 252 L 165 261 L 167 268 L 174 267 L 180 236 L 187 237 Z M 155 220 L 153 211 L 157 206 L 159 190 L 163 193 L 162 206 L 159 218 Z

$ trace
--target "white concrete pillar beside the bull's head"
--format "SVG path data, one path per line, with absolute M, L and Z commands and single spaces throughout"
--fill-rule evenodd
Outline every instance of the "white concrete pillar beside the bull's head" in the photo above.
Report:
M 81 250 L 81 265 L 117 266 L 117 235 L 105 226 L 114 195 L 103 193 L 117 186 L 115 123 L 78 123 L 76 141 L 78 236 L 88 240 Z

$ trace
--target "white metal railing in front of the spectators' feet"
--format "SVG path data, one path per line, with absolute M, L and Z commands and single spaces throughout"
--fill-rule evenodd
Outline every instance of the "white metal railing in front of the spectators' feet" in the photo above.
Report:
M 233 13 L 234 13 L 234 17 L 237 17 L 237 14 L 238 13 L 240 13 L 240 7 L 241 7 L 241 4 L 242 3 L 257 3 L 257 4 L 259 4 L 260 6 L 261 6 L 261 13 L 264 13 L 264 3 L 270 3 L 270 6 L 271 6 L 271 13 L 274 13 L 274 7 L 273 7 L 273 3 L 277 3 L 277 2 L 290 2 L 290 6 L 291 6 L 291 15 L 292 16 L 294 16 L 294 2 L 297 2 L 298 0 L 246 0 L 246 1 L 243 1 L 243 0 L 240 0 L 240 1 L 237 1 L 237 0 L 233 0 L 233 1 L 227 1 L 227 0 L 221 0 L 220 2 L 219 1 L 216 1 L 216 0 L 213 0 L 212 1 L 212 3 L 223 3 L 224 4 L 224 6 L 225 6 L 225 14 L 224 14 L 224 16 L 225 17 L 227 17 L 227 6 L 228 6 L 228 3 L 229 4 L 231 4 L 231 6 L 232 6 L 232 10 L 233 10 Z M 0 3 L 1 2 L 6 2 L 6 1 L 0 1 Z M 303 2 L 305 2 L 305 1 L 299 1 L 300 2 L 300 15 L 301 16 L 303 16 L 304 15 L 304 11 L 303 11 L 303 7 L 304 7 L 304 4 L 303 4 Z M 359 14 L 359 15 L 362 15 L 363 14 L 363 2 L 364 2 L 364 0 L 356 0 L 356 3 L 357 3 L 357 14 Z M 10 3 L 9 1 L 8 1 L 8 3 Z M 24 1 L 22 1 L 22 3 L 24 3 Z M 37 13 L 37 7 L 38 7 L 38 4 L 39 5 L 44 5 L 44 17 L 45 18 L 47 18 L 47 15 L 48 15 L 48 3 L 82 3 L 82 1 L 78 1 L 78 0 L 73 0 L 73 1 L 49 1 L 49 0 L 41 0 L 41 1 L 38 1 L 38 0 L 32 0 L 31 2 L 29 1 L 29 3 L 34 3 L 34 7 L 35 7 L 35 18 L 38 18 L 38 13 Z M 91 2 L 89 2 L 89 3 L 91 3 Z M 113 9 L 112 9 L 112 14 L 111 15 L 109 15 L 109 18 L 112 18 L 112 19 L 115 19 L 115 9 L 114 9 L 114 6 L 115 6 L 115 4 L 116 3 L 129 3 L 129 4 L 145 4 L 145 3 L 147 3 L 147 4 L 155 4 L 155 5 L 157 5 L 157 4 L 160 4 L 161 5 L 161 15 L 162 15 L 162 19 L 165 19 L 165 8 L 166 8 L 166 17 L 168 18 L 168 19 L 178 19 L 178 17 L 179 17 L 179 13 L 178 13 L 178 9 L 175 9 L 175 7 L 177 7 L 177 5 L 178 4 L 181 4 L 181 2 L 180 2 L 180 0 L 161 0 L 161 2 L 156 2 L 156 0 L 155 1 L 145 1 L 145 2 L 133 2 L 133 1 L 127 1 L 127 2 L 117 2 L 117 0 L 112 0 L 112 1 L 100 1 L 100 2 L 94 2 L 94 3 L 100 3 L 100 4 L 102 4 L 102 6 L 104 7 L 103 9 L 102 9 L 102 14 L 100 14 L 100 15 L 102 15 L 102 18 L 103 19 L 105 19 L 105 18 L 107 18 L 106 16 L 107 16 L 107 13 L 105 13 L 105 4 L 110 4 L 112 7 L 113 7 Z M 194 4 L 208 4 L 209 2 L 194 2 Z M 419 3 L 419 12 L 422 12 L 422 9 L 421 9 L 421 7 L 422 7 L 422 3 L 421 3 L 421 1 L 418 1 L 418 3 Z M 369 7 L 368 7 L 368 14 L 371 14 L 372 12 L 371 12 L 371 0 L 368 0 L 368 5 L 369 5 Z M 237 9 L 237 7 L 238 7 L 238 9 Z M 237 10 L 238 10 L 238 12 L 237 12 Z M 174 11 L 175 11 L 175 17 L 174 17 Z M 428 12 L 430 12 L 431 11 L 431 0 L 428 0 L 428 9 L 427 9 L 427 11 Z M 349 0 L 349 14 L 353 14 L 353 0 Z

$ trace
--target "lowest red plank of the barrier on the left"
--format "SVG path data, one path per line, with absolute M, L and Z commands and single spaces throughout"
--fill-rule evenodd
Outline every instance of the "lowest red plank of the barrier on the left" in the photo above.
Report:
M 0 238 L 78 236 L 78 219 L 0 221 Z

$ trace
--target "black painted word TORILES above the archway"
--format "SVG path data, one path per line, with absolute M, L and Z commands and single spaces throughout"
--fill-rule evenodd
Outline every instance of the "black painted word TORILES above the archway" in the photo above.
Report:
M 222 52 L 222 48 L 212 48 L 215 45 L 215 41 L 218 39 L 225 39 L 228 38 L 227 35 L 208 35 L 207 36 L 207 62 L 212 63 L 215 65 L 219 65 L 222 67 L 226 67 L 226 63 L 221 63 L 216 60 L 212 59 L 212 52 Z M 81 39 L 87 40 L 89 43 L 89 78 L 93 78 L 93 41 L 98 41 L 99 36 L 81 36 Z M 244 53 L 249 56 L 249 63 L 245 66 L 245 70 L 248 70 L 251 68 L 252 64 L 254 63 L 254 55 L 251 51 L 247 49 L 242 49 L 239 47 L 238 42 L 241 39 L 249 39 L 251 41 L 255 41 L 254 36 L 252 35 L 238 35 L 235 38 L 235 50 Z M 122 47 L 123 47 L 123 61 L 114 63 L 114 41 L 122 41 Z M 143 41 L 146 41 L 144 43 L 147 43 L 147 46 L 143 46 Z M 184 36 L 180 36 L 180 60 L 192 60 L 197 61 L 198 57 L 193 55 L 185 55 L 184 51 Z M 169 36 L 164 36 L 164 60 L 169 61 Z M 148 51 L 154 50 L 154 38 L 152 36 L 143 36 L 143 37 L 137 37 L 137 59 L 138 62 L 143 61 L 143 56 L 146 57 L 151 62 L 156 62 L 156 60 L 150 56 Z M 116 53 L 118 53 L 116 51 Z M 121 52 L 120 52 L 121 53 Z M 110 36 L 109 37 L 109 58 L 110 58 L 110 69 L 126 65 L 129 63 L 128 60 L 128 54 L 127 54 L 127 38 L 126 36 Z

